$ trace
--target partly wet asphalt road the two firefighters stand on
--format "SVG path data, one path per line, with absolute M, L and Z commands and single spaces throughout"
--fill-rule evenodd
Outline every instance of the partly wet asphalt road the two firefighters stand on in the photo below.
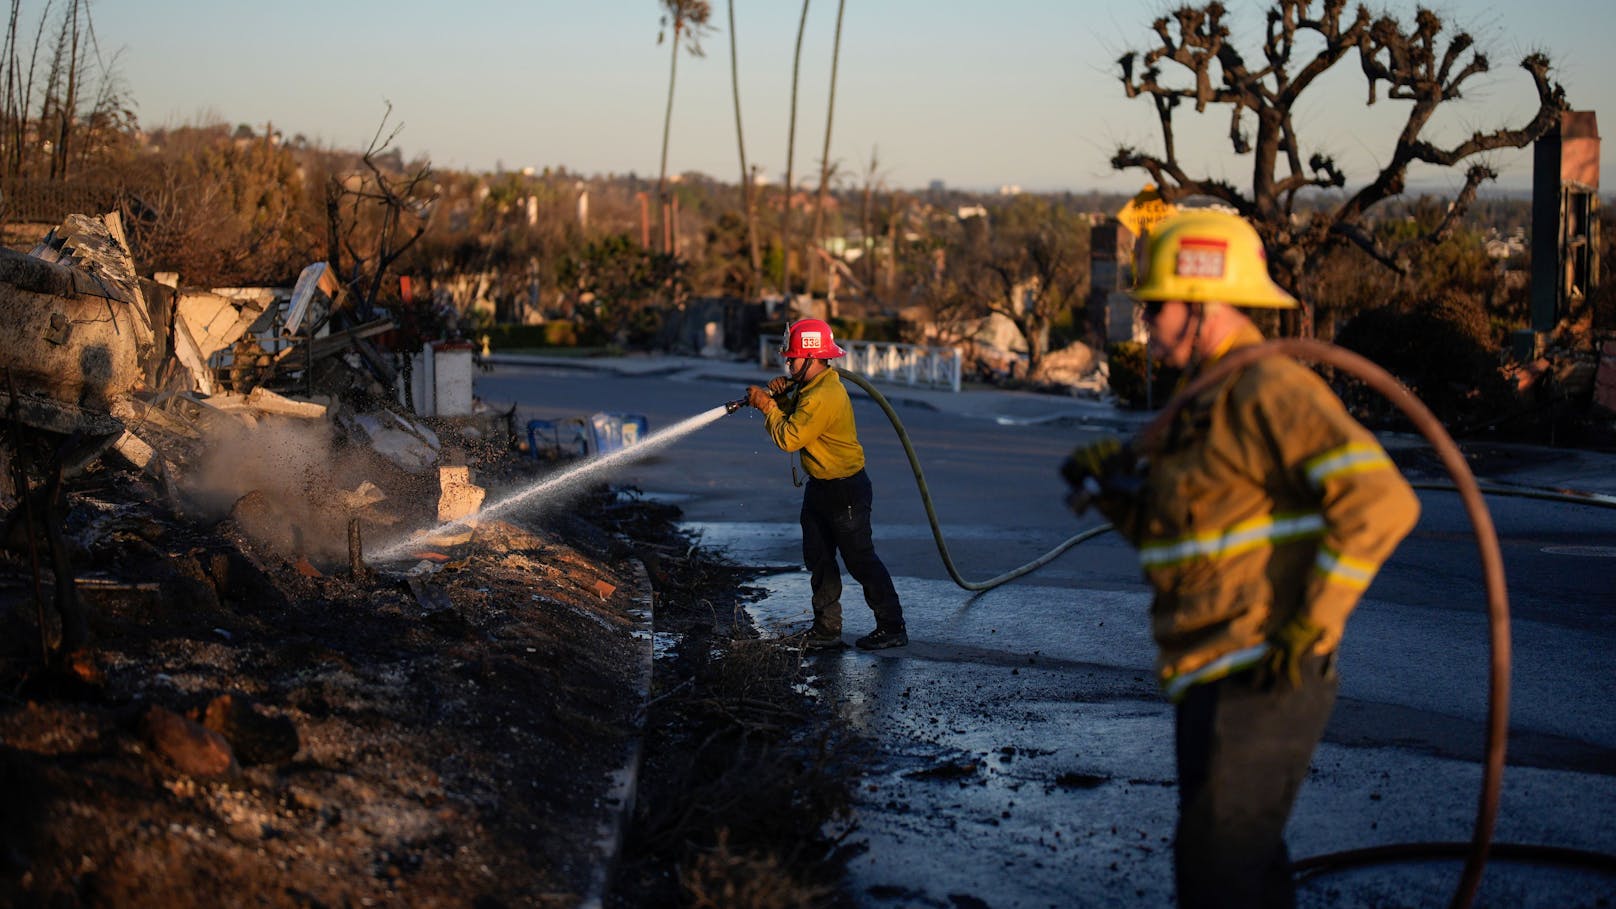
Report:
M 742 388 L 680 375 L 499 367 L 478 395 L 525 421 L 643 414 L 654 432 Z M 898 408 L 950 555 L 973 581 L 1097 522 L 1063 506 L 1055 466 L 1096 430 Z M 953 586 L 886 416 L 856 404 L 876 545 L 907 649 L 814 657 L 816 689 L 879 742 L 853 865 L 868 906 L 1170 906 L 1172 713 L 1151 679 L 1147 594 L 1100 535 L 983 595 Z M 755 411 L 627 461 L 614 482 L 677 503 L 705 542 L 777 566 L 756 618 L 800 628 L 800 490 Z M 1354 613 L 1341 699 L 1299 797 L 1298 857 L 1467 841 L 1485 729 L 1485 594 L 1459 498 L 1424 514 Z M 1495 839 L 1616 854 L 1616 511 L 1490 500 L 1509 577 L 1511 742 Z M 847 639 L 873 624 L 856 584 Z M 1304 883 L 1302 906 L 1438 906 L 1458 862 L 1399 862 Z M 973 903 L 979 901 L 979 903 Z M 1611 906 L 1616 875 L 1493 860 L 1477 906 Z

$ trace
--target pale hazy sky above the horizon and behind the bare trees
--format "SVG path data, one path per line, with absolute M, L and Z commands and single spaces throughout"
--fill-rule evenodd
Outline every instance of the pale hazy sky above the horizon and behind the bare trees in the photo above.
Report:
M 1225 0 L 1236 36 L 1260 34 L 1265 3 Z M 1438 116 L 1430 137 L 1521 126 L 1535 95 L 1519 60 L 1545 50 L 1572 107 L 1601 115 L 1605 183 L 1616 184 L 1616 11 L 1610 0 L 1461 0 L 1433 5 L 1490 52 L 1492 73 Z M 1107 163 L 1120 142 L 1160 147 L 1147 100 L 1123 99 L 1115 60 L 1149 47 L 1170 3 L 1091 0 L 850 0 L 842 24 L 831 159 L 861 183 L 871 155 L 892 188 L 1138 189 L 1143 171 Z M 1378 3 L 1372 6 L 1382 8 Z M 1390 0 L 1412 19 L 1412 5 Z M 802 5 L 735 0 L 742 116 L 750 163 L 785 170 L 792 45 Z M 37 11 L 34 13 L 37 16 Z M 362 149 L 388 102 L 398 146 L 443 168 L 564 165 L 656 176 L 669 45 L 656 0 L 102 0 L 103 52 L 145 126 L 273 123 L 326 146 Z M 714 0 L 705 57 L 680 55 L 669 171 L 739 178 L 726 0 Z M 808 10 L 795 173 L 818 173 L 835 3 Z M 1248 58 L 1256 60 L 1256 44 Z M 1370 108 L 1351 65 L 1298 113 L 1307 155 L 1333 154 L 1361 183 L 1390 150 L 1401 116 L 1382 91 Z M 1448 107 L 1445 107 L 1448 110 Z M 1227 152 L 1227 112 L 1180 115 L 1180 147 L 1202 173 L 1249 183 Z M 1498 154 L 1500 184 L 1524 188 L 1530 152 Z M 1414 173 L 1433 188 L 1459 175 Z

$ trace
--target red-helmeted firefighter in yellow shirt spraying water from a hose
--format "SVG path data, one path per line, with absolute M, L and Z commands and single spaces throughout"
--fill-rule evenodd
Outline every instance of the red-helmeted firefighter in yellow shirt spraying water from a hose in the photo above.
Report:
M 908 644 L 903 607 L 869 534 L 873 492 L 853 424 L 853 403 L 829 364 L 842 349 L 827 323 L 803 319 L 790 327 L 781 356 L 789 375 L 772 378 L 768 388 L 748 387 L 747 403 L 763 411 L 774 445 L 802 451 L 808 474 L 802 527 L 803 563 L 813 586 L 813 628 L 803 645 L 842 645 L 842 569 L 835 563 L 840 552 L 847 573 L 865 589 L 865 602 L 876 613 L 876 629 L 860 637 L 858 647 L 903 647 Z

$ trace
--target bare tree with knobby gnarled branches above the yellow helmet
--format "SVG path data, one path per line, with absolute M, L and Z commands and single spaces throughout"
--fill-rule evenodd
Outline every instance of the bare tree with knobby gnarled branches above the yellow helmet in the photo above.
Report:
M 1233 207 L 1256 225 L 1273 256 L 1273 278 L 1299 290 L 1309 262 L 1336 244 L 1353 244 L 1375 262 L 1403 273 L 1420 249 L 1441 241 L 1475 197 L 1477 188 L 1496 178 L 1487 163 L 1471 163 L 1464 186 L 1448 215 L 1429 233 L 1396 246 L 1377 238 L 1366 214 L 1404 191 L 1409 165 L 1459 167 L 1498 149 L 1521 149 L 1542 137 L 1564 108 L 1561 87 L 1550 79 L 1550 60 L 1530 53 L 1521 61 L 1537 91 L 1538 108 L 1519 128 L 1475 131 L 1451 146 L 1424 136 L 1432 115 L 1462 97 L 1466 86 L 1490 70 L 1467 32 L 1445 29 L 1441 18 L 1416 10 L 1406 26 L 1391 15 L 1374 16 L 1367 6 L 1348 13 L 1346 0 L 1277 0 L 1267 11 L 1259 53 L 1248 58 L 1230 40 L 1222 3 L 1180 6 L 1155 19 L 1159 45 L 1128 52 L 1118 60 L 1123 91 L 1130 99 L 1147 97 L 1162 128 L 1162 147 L 1151 154 L 1120 147 L 1117 170 L 1139 168 L 1151 175 L 1168 202 L 1204 196 Z M 1302 52 L 1301 49 L 1311 49 Z M 1299 212 L 1298 199 L 1311 189 L 1343 189 L 1346 173 L 1335 159 L 1312 152 L 1304 159 L 1293 112 L 1299 97 L 1330 68 L 1356 58 L 1367 82 L 1367 104 L 1383 92 L 1409 102 L 1408 116 L 1380 170 L 1356 191 L 1328 207 Z M 1173 115 L 1185 105 L 1206 113 L 1227 110 L 1228 141 L 1236 155 L 1251 155 L 1251 184 L 1236 188 L 1225 180 L 1196 176 L 1180 159 Z

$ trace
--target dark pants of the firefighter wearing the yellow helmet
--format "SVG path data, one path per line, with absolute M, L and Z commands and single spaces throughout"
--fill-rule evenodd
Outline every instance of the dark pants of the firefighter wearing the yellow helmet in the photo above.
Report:
M 1178 906 L 1296 904 L 1285 822 L 1335 705 L 1335 655 L 1272 691 L 1257 671 L 1197 684 L 1178 704 Z

